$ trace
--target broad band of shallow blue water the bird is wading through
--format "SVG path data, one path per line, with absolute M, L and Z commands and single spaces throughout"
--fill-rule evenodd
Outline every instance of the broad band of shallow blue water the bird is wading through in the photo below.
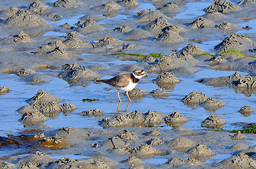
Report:
M 126 61 L 131 63 L 132 61 Z M 126 63 L 125 62 L 125 63 Z M 123 64 L 123 61 L 111 62 L 111 64 Z M 110 64 L 110 63 L 101 63 Z M 173 111 L 179 111 L 181 115 L 184 115 L 190 119 L 184 124 L 185 127 L 191 129 L 201 129 L 201 122 L 207 118 L 210 114 L 216 113 L 221 118 L 227 120 L 224 129 L 232 130 L 235 127 L 232 123 L 238 122 L 254 122 L 256 114 L 251 114 L 249 117 L 244 117 L 238 110 L 244 105 L 249 105 L 252 108 L 256 108 L 255 100 L 256 97 L 253 94 L 250 97 L 246 97 L 243 94 L 237 94 L 233 89 L 228 89 L 227 87 L 211 87 L 205 86 L 194 80 L 202 77 L 219 77 L 228 76 L 233 74 L 234 71 L 216 71 L 203 69 L 198 73 L 194 74 L 192 77 L 179 77 L 182 81 L 174 88 L 174 90 L 167 90 L 170 92 L 170 96 L 167 98 L 157 98 L 151 95 L 145 96 L 142 100 L 136 100 L 132 98 L 131 103 L 127 102 L 125 95 L 121 95 L 120 111 L 117 111 L 118 98 L 116 95 L 116 90 L 111 89 L 109 91 L 104 90 L 104 88 L 109 88 L 105 84 L 96 85 L 95 83 L 90 83 L 87 87 L 81 86 L 69 86 L 69 84 L 57 77 L 53 78 L 52 81 L 42 84 L 42 85 L 28 85 L 24 81 L 20 80 L 20 77 L 15 75 L 3 75 L 1 74 L 1 85 L 6 86 L 11 89 L 10 93 L 0 96 L 2 99 L 0 110 L 2 112 L 0 117 L 0 122 L 3 124 L 0 135 L 5 136 L 7 130 L 9 133 L 17 134 L 20 130 L 23 130 L 23 124 L 18 122 L 20 115 L 16 112 L 19 107 L 28 105 L 25 100 L 33 97 L 39 89 L 45 90 L 64 99 L 66 103 L 75 104 L 78 108 L 75 112 L 70 114 L 60 113 L 56 119 L 50 119 L 45 122 L 46 125 L 51 127 L 90 127 L 90 128 L 101 128 L 98 126 L 97 121 L 104 117 L 111 117 L 116 113 L 126 112 L 126 106 L 129 104 L 129 111 L 138 110 L 140 112 L 146 112 L 148 110 L 159 110 L 165 115 L 169 115 Z M 241 75 L 246 75 L 246 73 L 240 72 Z M 157 74 L 147 74 L 148 78 L 140 80 L 137 85 L 138 88 L 151 92 L 154 89 L 158 89 L 158 86 L 152 83 Z M 109 78 L 110 76 L 103 76 L 102 78 Z M 181 99 L 190 92 L 202 92 L 209 97 L 214 97 L 223 101 L 226 105 L 216 112 L 205 110 L 200 106 L 187 106 L 181 102 Z M 83 98 L 96 98 L 99 101 L 93 102 L 82 102 Z M 8 105 L 8 106 L 7 106 Z M 83 110 L 100 109 L 105 112 L 103 117 L 89 118 L 82 117 L 78 114 Z M 164 124 L 163 124 L 164 125 Z M 169 128 L 169 126 L 163 126 Z

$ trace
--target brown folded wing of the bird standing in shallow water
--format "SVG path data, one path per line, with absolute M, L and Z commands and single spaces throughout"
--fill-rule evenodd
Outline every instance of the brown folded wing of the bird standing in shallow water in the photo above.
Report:
M 124 88 L 129 84 L 129 78 L 131 78 L 131 74 L 122 74 L 112 77 L 110 79 L 103 79 L 97 81 L 106 83 L 116 88 Z

